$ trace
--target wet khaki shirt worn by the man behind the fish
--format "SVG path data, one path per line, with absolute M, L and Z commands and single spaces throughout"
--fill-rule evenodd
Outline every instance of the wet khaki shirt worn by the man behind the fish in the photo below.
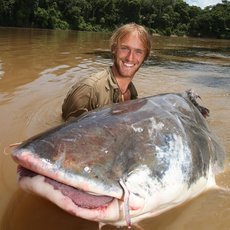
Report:
M 131 82 L 128 86 L 131 100 L 138 94 Z M 77 82 L 68 92 L 62 105 L 62 118 L 68 120 L 81 114 L 120 102 L 120 90 L 111 67 Z

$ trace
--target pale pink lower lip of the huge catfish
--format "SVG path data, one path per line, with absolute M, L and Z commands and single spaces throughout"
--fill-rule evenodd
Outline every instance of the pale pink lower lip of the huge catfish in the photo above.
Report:
M 118 199 L 112 198 L 110 202 L 96 208 L 81 207 L 76 205 L 68 196 L 55 189 L 53 185 L 47 183 L 46 178 L 42 175 L 21 177 L 19 179 L 19 186 L 25 191 L 38 194 L 50 200 L 71 215 L 83 219 L 116 225 L 116 222 L 123 218 Z M 125 225 L 125 222 L 122 225 Z

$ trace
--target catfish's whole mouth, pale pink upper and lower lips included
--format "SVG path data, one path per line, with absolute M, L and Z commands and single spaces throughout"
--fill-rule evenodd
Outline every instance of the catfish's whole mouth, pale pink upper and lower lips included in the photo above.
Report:
M 124 181 L 95 180 L 56 167 L 31 151 L 15 151 L 19 187 L 39 195 L 73 216 L 112 225 L 130 226 Z

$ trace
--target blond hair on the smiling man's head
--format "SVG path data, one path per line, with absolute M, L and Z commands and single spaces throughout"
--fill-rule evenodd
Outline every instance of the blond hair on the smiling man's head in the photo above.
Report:
M 110 49 L 111 52 L 114 53 L 115 48 L 120 44 L 122 38 L 124 38 L 127 34 L 130 34 L 134 31 L 138 32 L 139 38 L 145 48 L 145 59 L 148 58 L 151 51 L 151 39 L 150 34 L 145 29 L 145 27 L 138 25 L 136 23 L 125 24 L 119 28 L 117 28 L 111 38 L 110 38 Z

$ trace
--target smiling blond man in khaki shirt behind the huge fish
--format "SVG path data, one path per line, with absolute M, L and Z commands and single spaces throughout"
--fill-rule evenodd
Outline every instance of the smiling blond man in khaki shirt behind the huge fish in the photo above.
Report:
M 64 120 L 108 104 L 137 98 L 132 80 L 149 56 L 150 36 L 143 26 L 129 23 L 115 30 L 110 43 L 113 65 L 72 87 L 62 105 Z

